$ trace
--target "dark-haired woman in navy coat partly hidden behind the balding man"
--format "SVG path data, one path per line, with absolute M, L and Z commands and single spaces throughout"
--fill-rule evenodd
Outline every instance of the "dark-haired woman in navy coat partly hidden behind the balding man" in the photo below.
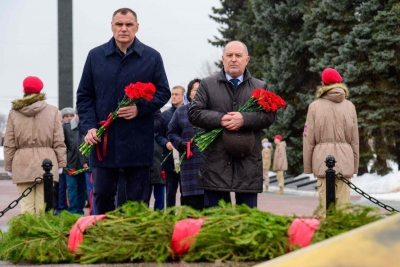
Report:
M 189 145 L 190 151 L 188 151 L 188 142 L 191 141 L 196 133 L 196 127 L 189 122 L 188 111 L 190 101 L 196 95 L 200 82 L 200 79 L 194 79 L 189 82 L 186 93 L 189 104 L 176 109 L 168 125 L 167 132 L 168 140 L 174 147 L 178 148 L 180 156 L 186 152 L 186 157 L 180 165 L 181 205 L 190 206 L 196 210 L 203 210 L 204 208 L 204 191 L 197 188 L 201 159 L 200 151 L 197 146 L 192 144 Z M 193 153 L 193 155 L 187 158 L 188 153 Z

